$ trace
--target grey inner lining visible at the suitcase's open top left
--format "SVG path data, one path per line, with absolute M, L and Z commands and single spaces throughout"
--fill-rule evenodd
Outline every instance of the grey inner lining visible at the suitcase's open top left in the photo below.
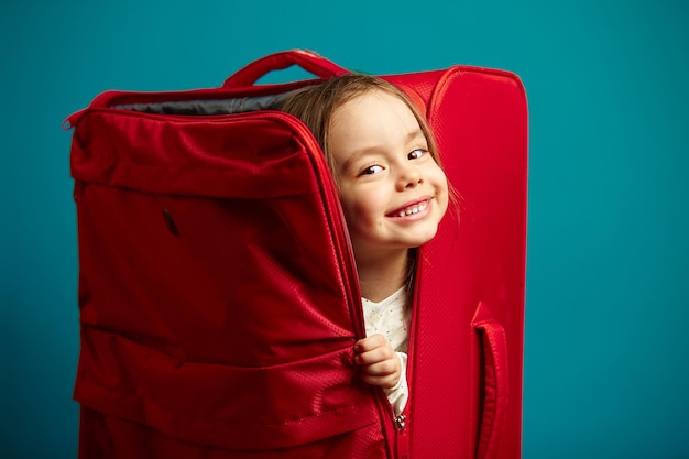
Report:
M 121 103 L 111 106 L 111 108 L 157 114 L 231 114 L 256 110 L 277 110 L 289 94 L 292 94 L 292 91 L 237 99 L 196 99 L 166 102 Z

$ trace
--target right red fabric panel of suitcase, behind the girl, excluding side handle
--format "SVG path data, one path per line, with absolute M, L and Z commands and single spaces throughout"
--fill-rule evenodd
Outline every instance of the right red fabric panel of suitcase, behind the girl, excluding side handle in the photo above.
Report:
M 526 256 L 527 111 L 524 88 L 507 72 L 458 66 L 391 77 L 426 97 L 448 179 L 459 194 L 436 238 L 422 251 L 411 361 L 409 428 L 414 459 L 521 457 Z M 429 84 L 431 89 L 429 89 Z M 502 428 L 481 449 L 484 335 L 471 326 L 490 305 L 505 332 L 508 398 Z

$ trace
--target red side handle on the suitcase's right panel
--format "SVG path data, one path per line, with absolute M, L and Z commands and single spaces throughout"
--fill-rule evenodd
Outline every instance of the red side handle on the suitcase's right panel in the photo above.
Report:
M 484 357 L 483 418 L 477 448 L 478 459 L 496 458 L 507 407 L 507 339 L 483 302 L 472 321 L 480 331 Z

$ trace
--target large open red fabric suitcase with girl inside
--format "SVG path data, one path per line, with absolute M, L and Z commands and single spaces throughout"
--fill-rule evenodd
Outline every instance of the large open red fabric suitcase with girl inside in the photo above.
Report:
M 404 423 L 359 382 L 364 334 L 320 150 L 254 85 L 108 91 L 74 129 L 80 458 L 521 457 L 526 98 L 494 69 L 386 76 L 425 111 L 461 195 L 422 249 Z M 461 220 L 461 222 L 459 221 Z M 400 419 L 397 419 L 400 420 Z

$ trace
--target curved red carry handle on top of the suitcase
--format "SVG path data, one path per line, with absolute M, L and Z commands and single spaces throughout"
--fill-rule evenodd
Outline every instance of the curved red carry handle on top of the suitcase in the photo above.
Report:
M 298 65 L 306 72 L 310 72 L 321 78 L 329 78 L 336 75 L 349 73 L 346 68 L 340 67 L 333 62 L 330 62 L 311 51 L 291 50 L 269 54 L 265 57 L 261 57 L 260 59 L 248 64 L 245 67 L 239 69 L 237 73 L 227 78 L 222 84 L 222 87 L 236 88 L 253 86 L 262 76 L 273 70 L 282 70 L 283 68 L 287 68 L 293 65 Z

